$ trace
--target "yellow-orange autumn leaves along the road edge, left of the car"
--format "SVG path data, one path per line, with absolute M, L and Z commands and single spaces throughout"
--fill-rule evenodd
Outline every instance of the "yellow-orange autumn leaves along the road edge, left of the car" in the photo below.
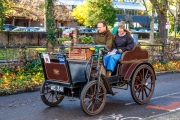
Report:
M 43 82 L 42 68 L 34 71 L 24 70 L 24 67 L 16 67 L 13 71 L 5 71 L 0 78 L 0 95 L 12 94 L 16 89 L 28 89 L 40 85 Z

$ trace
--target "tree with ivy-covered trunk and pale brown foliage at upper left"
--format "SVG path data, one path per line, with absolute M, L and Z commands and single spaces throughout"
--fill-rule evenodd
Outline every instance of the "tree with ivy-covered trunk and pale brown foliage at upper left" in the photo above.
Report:
M 3 13 L 0 14 L 0 20 L 4 16 L 25 17 L 35 21 L 45 20 L 45 26 L 47 27 L 46 45 L 48 51 L 53 51 L 56 44 L 55 20 L 60 22 L 74 20 L 66 6 L 63 4 L 55 5 L 55 2 L 57 0 L 0 0 L 0 6 L 3 6 L 0 7 L 0 13 Z

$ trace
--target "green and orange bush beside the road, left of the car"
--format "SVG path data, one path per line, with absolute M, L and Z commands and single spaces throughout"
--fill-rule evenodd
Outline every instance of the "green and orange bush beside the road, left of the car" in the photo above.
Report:
M 0 95 L 13 94 L 17 89 L 33 89 L 44 79 L 40 59 L 25 66 L 3 66 L 0 76 Z

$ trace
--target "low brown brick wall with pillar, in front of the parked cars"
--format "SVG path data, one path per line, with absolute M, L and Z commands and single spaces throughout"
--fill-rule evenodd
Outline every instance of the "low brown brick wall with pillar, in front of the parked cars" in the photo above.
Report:
M 77 29 L 73 31 L 73 42 L 79 44 L 79 36 L 86 35 L 94 37 L 96 33 L 80 33 Z M 148 37 L 149 33 L 136 33 L 139 37 Z M 56 32 L 56 37 L 62 37 L 62 31 Z M 46 32 L 0 32 L 0 46 L 27 44 L 30 46 L 41 46 L 46 42 Z

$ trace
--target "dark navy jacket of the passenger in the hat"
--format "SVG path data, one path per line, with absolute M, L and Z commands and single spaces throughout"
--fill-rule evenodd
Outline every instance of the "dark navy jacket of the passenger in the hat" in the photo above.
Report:
M 121 49 L 123 52 L 131 51 L 135 46 L 134 39 L 130 34 L 119 36 L 118 34 L 114 38 L 112 49 Z

